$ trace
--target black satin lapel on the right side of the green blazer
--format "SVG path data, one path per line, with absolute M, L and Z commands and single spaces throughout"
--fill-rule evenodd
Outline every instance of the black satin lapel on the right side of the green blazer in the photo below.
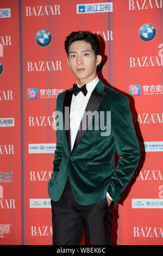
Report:
M 97 111 L 99 105 L 101 105 L 101 103 L 103 101 L 103 98 L 104 98 L 105 94 L 106 93 L 98 94 L 96 89 L 94 89 L 92 94 L 91 94 L 91 96 L 90 96 L 89 101 L 87 102 L 87 105 L 86 105 L 86 108 L 85 108 L 85 112 L 87 112 L 87 111 L 91 111 L 91 112 Z M 84 117 L 84 115 L 83 115 L 83 117 Z M 92 121 L 92 118 L 90 118 L 89 122 L 86 123 L 86 129 L 89 126 L 89 124 L 91 123 L 91 121 Z M 81 125 L 82 125 L 82 120 L 80 122 L 80 126 L 79 127 L 81 127 Z M 77 148 L 80 140 L 82 139 L 82 137 L 84 136 L 84 133 L 86 132 L 86 129 L 85 130 L 82 130 L 82 129 L 78 130 L 77 137 L 75 139 L 75 142 L 74 142 L 71 154 Z

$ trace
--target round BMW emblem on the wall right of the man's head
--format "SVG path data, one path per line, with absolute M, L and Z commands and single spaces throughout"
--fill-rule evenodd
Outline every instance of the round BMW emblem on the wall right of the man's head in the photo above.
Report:
M 139 29 L 139 36 L 140 39 L 146 42 L 152 41 L 155 38 L 156 35 L 156 29 L 151 24 L 144 24 Z

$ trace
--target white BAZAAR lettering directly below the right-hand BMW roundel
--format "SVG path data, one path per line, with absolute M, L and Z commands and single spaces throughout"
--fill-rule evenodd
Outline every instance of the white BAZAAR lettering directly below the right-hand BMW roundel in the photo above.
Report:
M 130 58 L 130 68 L 139 68 L 145 66 L 162 66 L 163 58 L 162 56 L 143 56 L 143 57 L 129 57 Z

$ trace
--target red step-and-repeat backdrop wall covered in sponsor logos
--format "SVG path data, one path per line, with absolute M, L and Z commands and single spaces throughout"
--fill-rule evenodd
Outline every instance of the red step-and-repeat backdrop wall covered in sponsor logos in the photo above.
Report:
M 98 76 L 128 96 L 140 143 L 112 245 L 163 244 L 162 21 L 161 0 L 0 0 L 0 245 L 52 245 L 47 183 L 57 96 L 77 82 L 64 50 L 72 31 L 97 36 Z

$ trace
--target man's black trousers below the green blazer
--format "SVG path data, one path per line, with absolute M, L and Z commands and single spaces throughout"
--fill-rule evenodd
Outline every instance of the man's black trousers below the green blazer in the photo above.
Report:
M 111 245 L 112 203 L 107 199 L 81 205 L 73 196 L 70 178 L 58 202 L 51 200 L 53 245 Z

